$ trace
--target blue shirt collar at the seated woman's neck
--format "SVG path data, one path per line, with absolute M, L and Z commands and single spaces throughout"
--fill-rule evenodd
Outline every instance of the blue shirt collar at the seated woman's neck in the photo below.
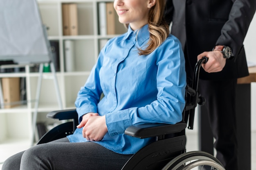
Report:
M 149 39 L 149 31 L 148 31 L 148 24 L 142 26 L 141 28 L 135 30 L 135 31 L 132 31 L 132 28 L 130 28 L 130 25 L 128 27 L 128 31 L 127 31 L 127 34 L 126 36 L 124 37 L 124 39 L 128 39 L 130 36 L 134 35 L 135 36 L 137 35 L 137 43 L 139 44 L 139 46 L 141 46 L 141 44 L 143 44 L 147 39 Z

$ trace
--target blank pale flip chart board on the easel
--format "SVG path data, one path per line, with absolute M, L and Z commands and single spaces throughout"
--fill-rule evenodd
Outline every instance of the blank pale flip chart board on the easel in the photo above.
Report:
M 0 61 L 52 61 L 36 0 L 0 0 Z

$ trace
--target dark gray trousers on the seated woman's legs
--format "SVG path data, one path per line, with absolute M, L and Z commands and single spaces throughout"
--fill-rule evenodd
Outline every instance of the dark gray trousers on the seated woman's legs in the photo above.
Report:
M 65 137 L 9 157 L 2 170 L 121 170 L 131 156 L 94 142 L 70 143 Z

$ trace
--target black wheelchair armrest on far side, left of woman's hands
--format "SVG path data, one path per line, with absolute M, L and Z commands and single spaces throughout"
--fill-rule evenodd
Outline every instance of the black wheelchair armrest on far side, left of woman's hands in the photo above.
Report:
M 58 119 L 58 120 L 67 120 L 67 119 L 78 119 L 76 109 L 66 109 L 66 110 L 57 110 L 52 111 L 47 114 L 47 118 Z

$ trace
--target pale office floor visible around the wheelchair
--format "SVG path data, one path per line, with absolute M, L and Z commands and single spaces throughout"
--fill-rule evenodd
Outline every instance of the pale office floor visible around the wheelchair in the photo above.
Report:
M 187 152 L 192 150 L 198 150 L 198 135 L 191 132 L 187 135 Z M 2 169 L 2 162 L 9 156 L 18 153 L 22 150 L 29 148 L 29 140 L 9 140 L 4 143 L 0 143 L 0 169 Z M 252 132 L 252 170 L 256 170 L 256 132 Z

